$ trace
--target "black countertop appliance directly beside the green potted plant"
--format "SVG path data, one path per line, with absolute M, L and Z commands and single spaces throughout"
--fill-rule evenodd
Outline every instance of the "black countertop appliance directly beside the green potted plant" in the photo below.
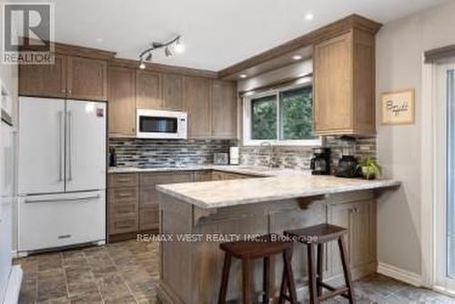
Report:
M 359 177 L 359 168 L 355 155 L 355 138 L 341 137 L 343 144 L 341 145 L 341 158 L 339 164 L 335 168 L 336 177 Z

